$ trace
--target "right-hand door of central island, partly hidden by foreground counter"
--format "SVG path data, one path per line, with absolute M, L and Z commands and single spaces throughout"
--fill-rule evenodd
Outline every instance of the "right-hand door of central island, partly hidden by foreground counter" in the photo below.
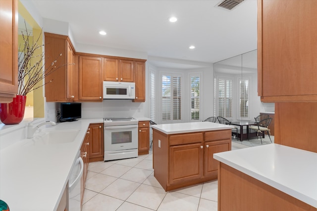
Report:
M 217 176 L 219 162 L 213 154 L 231 150 L 231 139 L 205 142 L 204 176 Z

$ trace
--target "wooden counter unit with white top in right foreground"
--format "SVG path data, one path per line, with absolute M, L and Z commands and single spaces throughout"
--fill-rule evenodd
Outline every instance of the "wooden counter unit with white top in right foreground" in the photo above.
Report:
M 317 211 L 317 153 L 268 144 L 213 157 L 218 211 Z

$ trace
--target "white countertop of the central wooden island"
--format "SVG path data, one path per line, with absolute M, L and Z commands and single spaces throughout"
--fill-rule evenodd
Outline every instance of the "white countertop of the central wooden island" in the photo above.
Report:
M 220 129 L 232 129 L 233 126 L 223 125 L 211 122 L 194 122 L 194 123 L 174 123 L 174 124 L 162 124 L 152 125 L 151 127 L 165 133 L 165 134 L 176 134 L 185 132 L 201 132 L 209 130 L 220 130 Z

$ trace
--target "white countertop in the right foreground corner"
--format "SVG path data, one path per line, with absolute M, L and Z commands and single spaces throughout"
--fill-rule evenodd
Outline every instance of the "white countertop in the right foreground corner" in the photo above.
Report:
M 213 158 L 317 208 L 317 153 L 268 144 Z

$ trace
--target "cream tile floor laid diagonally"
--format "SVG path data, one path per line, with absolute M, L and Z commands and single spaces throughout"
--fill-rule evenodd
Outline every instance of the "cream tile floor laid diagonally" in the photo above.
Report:
M 232 139 L 232 150 L 257 145 L 260 139 Z M 152 162 L 150 149 L 138 158 L 90 163 L 82 211 L 217 211 L 217 180 L 165 192 Z

